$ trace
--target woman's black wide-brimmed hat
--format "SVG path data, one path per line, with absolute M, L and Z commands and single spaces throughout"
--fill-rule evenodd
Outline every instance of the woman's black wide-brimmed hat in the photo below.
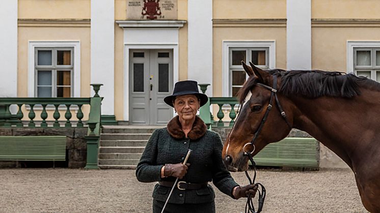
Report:
M 205 94 L 199 93 L 198 82 L 192 80 L 178 81 L 174 85 L 173 95 L 164 98 L 164 101 L 169 106 L 173 107 L 173 100 L 177 96 L 195 95 L 200 99 L 201 106 L 205 105 L 208 98 Z

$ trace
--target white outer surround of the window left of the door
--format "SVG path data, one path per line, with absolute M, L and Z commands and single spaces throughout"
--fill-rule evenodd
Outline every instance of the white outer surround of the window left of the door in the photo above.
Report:
M 80 42 L 79 41 L 29 41 L 28 44 L 28 97 L 33 98 L 37 94 L 35 49 L 36 48 L 72 48 L 73 71 L 72 71 L 72 97 L 80 98 Z

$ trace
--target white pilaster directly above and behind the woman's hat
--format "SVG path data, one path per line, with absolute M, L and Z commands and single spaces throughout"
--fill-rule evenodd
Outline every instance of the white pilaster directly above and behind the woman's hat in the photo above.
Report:
M 212 96 L 212 0 L 191 0 L 188 4 L 188 79 L 211 84 Z

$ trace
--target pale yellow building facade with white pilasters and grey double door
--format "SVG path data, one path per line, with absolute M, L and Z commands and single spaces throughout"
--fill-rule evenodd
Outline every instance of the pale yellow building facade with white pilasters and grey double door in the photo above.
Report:
M 4 1 L 0 96 L 89 97 L 102 83 L 102 114 L 162 125 L 175 82 L 234 96 L 241 59 L 379 81 L 379 10 L 373 0 Z

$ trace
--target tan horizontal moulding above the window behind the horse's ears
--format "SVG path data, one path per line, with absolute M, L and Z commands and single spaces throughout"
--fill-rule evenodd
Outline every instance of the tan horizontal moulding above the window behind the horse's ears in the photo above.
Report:
M 212 19 L 213 27 L 286 27 L 286 19 Z

